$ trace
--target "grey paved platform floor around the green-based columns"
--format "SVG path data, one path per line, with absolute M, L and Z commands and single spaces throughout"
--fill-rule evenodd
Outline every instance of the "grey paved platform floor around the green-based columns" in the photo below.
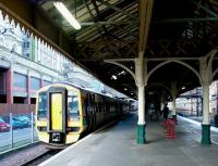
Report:
M 92 133 L 40 166 L 217 166 L 216 131 L 210 145 L 201 144 L 196 124 L 178 117 L 175 139 L 167 139 L 160 122 L 148 122 L 144 145 L 136 144 L 137 117 L 132 115 Z M 214 138 L 215 136 L 215 138 Z

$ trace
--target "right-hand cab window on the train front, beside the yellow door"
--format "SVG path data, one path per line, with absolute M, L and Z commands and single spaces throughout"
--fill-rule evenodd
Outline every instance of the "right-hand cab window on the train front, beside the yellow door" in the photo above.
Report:
M 69 91 L 69 94 L 68 94 L 68 112 L 69 112 L 70 118 L 80 115 L 77 92 Z

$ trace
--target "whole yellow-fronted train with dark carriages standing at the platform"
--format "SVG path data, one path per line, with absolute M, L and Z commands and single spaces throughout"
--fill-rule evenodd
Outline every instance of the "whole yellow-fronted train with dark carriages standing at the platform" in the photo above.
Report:
M 76 142 L 100 124 L 128 114 L 129 102 L 78 88 L 52 84 L 37 92 L 36 128 L 39 141 L 50 145 Z

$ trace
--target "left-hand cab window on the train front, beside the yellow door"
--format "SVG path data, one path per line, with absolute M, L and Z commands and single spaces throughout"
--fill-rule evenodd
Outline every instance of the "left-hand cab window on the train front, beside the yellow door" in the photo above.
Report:
M 37 113 L 37 119 L 44 119 L 47 118 L 47 94 L 46 92 L 40 92 L 38 94 L 38 113 Z

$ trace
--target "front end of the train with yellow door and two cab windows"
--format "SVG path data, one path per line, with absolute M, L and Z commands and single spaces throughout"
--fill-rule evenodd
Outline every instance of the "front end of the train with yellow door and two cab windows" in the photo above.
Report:
M 39 141 L 60 146 L 76 142 L 84 130 L 81 92 L 51 85 L 37 92 L 36 128 Z

